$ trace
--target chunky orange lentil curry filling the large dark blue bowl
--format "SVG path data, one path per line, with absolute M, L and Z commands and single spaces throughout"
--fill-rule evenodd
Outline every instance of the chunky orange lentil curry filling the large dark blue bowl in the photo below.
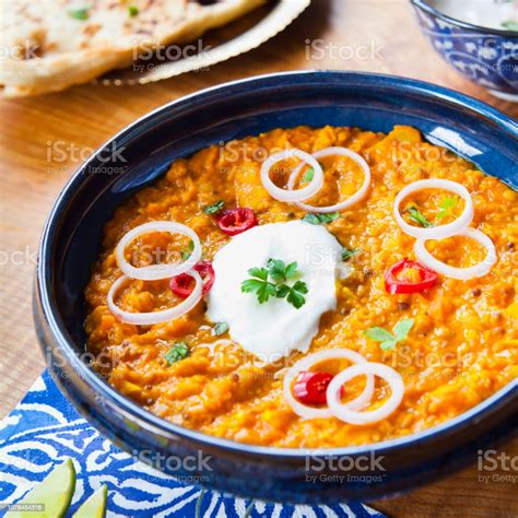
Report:
M 106 304 L 110 285 L 121 274 L 114 249 L 129 229 L 155 220 L 185 223 L 199 235 L 203 258 L 211 260 L 229 237 L 213 215 L 203 212 L 204 207 L 217 200 L 227 208 L 247 207 L 256 212 L 259 224 L 302 219 L 304 211 L 275 201 L 263 189 L 261 161 L 267 153 L 290 146 L 313 153 L 331 145 L 360 153 L 373 178 L 365 199 L 327 225 L 343 246 L 361 252 L 349 261 L 351 274 L 337 281 L 337 310 L 322 316 L 309 353 L 348 348 L 401 374 L 405 386 L 401 405 L 388 419 L 366 426 L 335 417 L 298 417 L 284 401 L 282 382 L 286 367 L 301 353 L 272 363 L 247 354 L 228 334 L 213 335 L 203 302 L 177 320 L 140 327 L 119 322 Z M 309 200 L 314 204 L 334 203 L 362 181 L 361 170 L 348 157 L 323 160 L 322 166 L 326 184 L 318 198 Z M 285 183 L 290 167 L 274 174 L 278 185 Z M 405 185 L 429 177 L 467 187 L 474 202 L 471 226 L 491 237 L 498 260 L 480 279 L 462 282 L 439 275 L 428 292 L 390 295 L 385 271 L 402 258 L 414 258 L 414 238 L 397 225 L 393 200 Z M 423 211 L 433 198 L 431 193 L 421 200 Z M 185 247 L 188 243 L 181 239 L 155 233 L 136 239 L 127 255 L 134 266 L 144 266 L 157 260 L 157 250 L 174 252 Z M 122 393 L 156 415 L 207 434 L 295 448 L 399 437 L 464 412 L 517 377 L 517 247 L 518 193 L 469 162 L 424 142 L 413 128 L 396 127 L 389 134 L 334 127 L 275 129 L 177 160 L 160 181 L 116 211 L 106 225 L 103 251 L 86 289 L 87 348 L 97 355 L 97 369 Z M 473 243 L 456 237 L 431 242 L 429 249 L 455 266 L 472 264 L 483 257 Z M 151 311 L 178 299 L 167 281 L 133 281 L 117 303 L 126 310 Z M 410 317 L 412 331 L 392 350 L 384 351 L 365 337 L 368 327 L 391 330 Z M 191 353 L 168 365 L 164 356 L 180 340 Z M 361 382 L 350 390 L 360 390 Z M 387 388 L 376 390 L 381 400 Z

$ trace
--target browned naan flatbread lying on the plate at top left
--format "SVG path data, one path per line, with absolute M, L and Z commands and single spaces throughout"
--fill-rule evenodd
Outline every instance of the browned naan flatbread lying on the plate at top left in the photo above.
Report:
M 64 90 L 201 36 L 266 0 L 2 0 L 4 97 Z M 3 52 L 5 54 L 5 51 Z

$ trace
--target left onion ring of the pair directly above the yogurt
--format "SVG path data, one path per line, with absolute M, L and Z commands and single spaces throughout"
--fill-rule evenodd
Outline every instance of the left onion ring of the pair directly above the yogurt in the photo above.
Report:
M 283 160 L 292 158 L 293 156 L 302 160 L 306 164 L 310 165 L 315 170 L 311 181 L 302 189 L 291 190 L 291 189 L 282 189 L 278 187 L 270 178 L 270 169 L 273 167 L 274 164 L 281 162 Z M 264 189 L 273 197 L 275 200 L 279 201 L 301 201 L 311 198 L 315 196 L 323 185 L 323 170 L 320 167 L 320 164 L 305 151 L 298 150 L 297 148 L 293 148 L 291 150 L 281 151 L 280 153 L 275 153 L 269 156 L 261 166 L 261 181 L 264 186 Z

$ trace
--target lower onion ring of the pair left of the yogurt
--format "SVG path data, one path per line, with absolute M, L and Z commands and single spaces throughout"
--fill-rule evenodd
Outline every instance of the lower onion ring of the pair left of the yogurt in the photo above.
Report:
M 175 307 L 170 307 L 162 311 L 151 313 L 125 311 L 115 304 L 114 298 L 117 292 L 125 284 L 133 280 L 128 275 L 121 275 L 119 279 L 117 279 L 117 281 L 114 282 L 114 284 L 111 284 L 111 287 L 109 289 L 107 296 L 108 309 L 122 322 L 136 323 L 137 326 L 151 326 L 153 323 L 162 323 L 175 320 L 190 311 L 201 301 L 202 297 L 203 281 L 201 280 L 200 274 L 196 270 L 192 270 L 189 272 L 189 275 L 195 279 L 196 284 L 192 293 L 185 301 L 181 301 L 181 303 Z

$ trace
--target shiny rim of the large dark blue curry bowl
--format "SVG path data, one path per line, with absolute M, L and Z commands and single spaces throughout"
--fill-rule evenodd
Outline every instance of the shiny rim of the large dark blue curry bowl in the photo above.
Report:
M 59 352 L 61 354 L 64 354 L 67 361 L 75 370 L 76 375 L 82 378 L 83 381 L 90 388 L 93 388 L 96 393 L 101 395 L 111 405 L 115 405 L 118 412 L 125 417 L 130 417 L 131 420 L 138 422 L 140 426 L 145 427 L 148 431 L 160 431 L 162 436 L 166 436 L 167 438 L 170 438 L 175 442 L 178 440 L 178 437 L 181 437 L 183 439 L 189 440 L 191 443 L 197 443 L 198 445 L 215 447 L 233 454 L 256 455 L 260 457 L 269 457 L 276 459 L 286 458 L 301 460 L 309 454 L 316 455 L 317 451 L 326 456 L 388 454 L 391 450 L 396 450 L 401 447 L 419 446 L 425 443 L 432 436 L 443 437 L 455 428 L 466 427 L 467 425 L 470 425 L 473 420 L 481 421 L 483 420 L 485 411 L 487 409 L 494 405 L 494 410 L 498 410 L 497 407 L 499 408 L 503 404 L 507 403 L 507 398 L 511 398 L 513 395 L 518 401 L 518 379 L 515 379 L 503 388 L 501 388 L 497 392 L 493 393 L 490 398 L 481 401 L 475 407 L 457 415 L 456 417 L 450 419 L 439 425 L 407 436 L 382 440 L 379 443 L 372 443 L 367 445 L 335 448 L 282 448 L 271 446 L 259 446 L 246 443 L 238 443 L 232 439 L 221 438 L 217 436 L 212 436 L 202 432 L 198 432 L 196 429 L 179 426 L 149 412 L 143 407 L 133 402 L 131 399 L 127 398 L 121 392 L 117 391 L 114 387 L 111 387 L 105 379 L 99 377 L 92 367 L 86 365 L 76 354 L 73 345 L 73 340 L 64 328 L 64 323 L 61 321 L 61 318 L 59 316 L 59 309 L 52 299 L 54 290 L 51 285 L 51 271 L 54 267 L 50 263 L 49 259 L 52 255 L 52 242 L 57 232 L 56 223 L 59 222 L 62 211 L 66 210 L 71 198 L 73 198 L 74 192 L 76 191 L 76 187 L 81 185 L 84 178 L 87 178 L 87 175 L 83 174 L 84 169 L 86 169 L 90 164 L 97 158 L 99 153 L 102 153 L 103 150 L 106 149 L 106 146 L 111 145 L 114 142 L 126 137 L 130 132 L 133 132 L 136 129 L 138 129 L 138 127 L 145 123 L 146 121 L 153 120 L 153 118 L 157 115 L 167 113 L 172 107 L 184 103 L 189 105 L 189 103 L 193 98 L 210 98 L 211 95 L 221 92 L 226 92 L 228 89 L 232 89 L 234 86 L 240 87 L 243 85 L 248 85 L 250 87 L 250 85 L 252 85 L 254 83 L 266 83 L 270 87 L 279 86 L 279 83 L 275 84 L 275 81 L 278 81 L 280 78 L 293 78 L 293 80 L 314 78 L 315 81 L 318 81 L 322 84 L 326 83 L 326 79 L 329 80 L 339 78 L 342 81 L 349 81 L 350 84 L 355 84 L 354 81 L 364 85 L 366 83 L 370 85 L 375 83 L 377 85 L 379 85 L 379 83 L 384 83 L 386 86 L 392 87 L 399 93 L 407 92 L 414 94 L 425 94 L 426 96 L 435 98 L 436 101 L 446 101 L 457 107 L 462 107 L 464 109 L 467 108 L 472 113 L 483 116 L 484 118 L 491 119 L 498 127 L 504 127 L 507 131 L 510 131 L 511 133 L 514 132 L 515 134 L 517 134 L 518 139 L 518 125 L 507 115 L 501 113 L 496 108 L 493 108 L 492 106 L 481 101 L 478 101 L 466 94 L 452 91 L 450 89 L 437 86 L 435 84 L 427 83 L 424 81 L 402 78 L 398 75 L 378 74 L 369 72 L 350 72 L 341 70 L 295 70 L 289 72 L 261 74 L 210 86 L 208 89 L 193 92 L 189 95 L 181 96 L 177 99 L 158 106 L 157 108 L 153 109 L 152 111 L 145 114 L 144 116 L 131 122 L 130 125 L 126 126 L 122 130 L 117 132 L 114 137 L 101 144 L 99 148 L 97 148 L 95 153 L 93 153 L 66 183 L 64 187 L 58 195 L 50 210 L 47 221 L 45 222 L 38 249 L 35 293 L 42 308 L 42 315 L 39 318 L 43 318 L 45 320 L 45 323 L 48 326 L 48 330 L 52 335 L 55 342 L 57 343 Z

